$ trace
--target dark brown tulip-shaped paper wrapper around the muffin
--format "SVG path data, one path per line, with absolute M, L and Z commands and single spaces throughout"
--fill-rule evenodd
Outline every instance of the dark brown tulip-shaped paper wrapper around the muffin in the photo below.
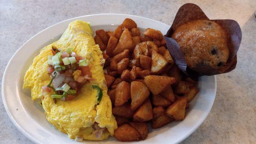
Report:
M 171 37 L 172 33 L 177 27 L 193 20 L 209 20 L 209 18 L 204 14 L 199 6 L 193 3 L 186 3 L 180 7 L 171 28 L 164 36 L 166 40 L 166 46 L 180 70 L 191 78 L 197 78 L 202 75 L 218 75 L 222 73 L 227 73 L 235 69 L 236 53 L 239 49 L 242 37 L 241 28 L 235 20 L 211 20 L 215 23 L 218 23 L 227 32 L 228 47 L 230 51 L 227 63 L 225 63 L 219 69 L 215 69 L 211 66 L 196 66 L 193 68 L 187 67 L 185 55 L 183 55 L 183 53 L 181 52 L 177 42 Z

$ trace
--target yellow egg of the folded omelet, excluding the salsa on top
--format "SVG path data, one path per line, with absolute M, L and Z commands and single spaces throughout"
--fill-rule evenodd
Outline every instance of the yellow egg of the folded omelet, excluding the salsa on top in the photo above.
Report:
M 49 84 L 48 56 L 52 55 L 52 46 L 61 50 L 73 48 L 73 52 L 88 60 L 94 81 L 84 84 L 73 101 L 61 101 L 56 104 L 51 98 L 53 92 L 44 92 L 41 88 Z M 113 135 L 117 128 L 112 114 L 111 100 L 107 94 L 107 86 L 102 66 L 104 62 L 102 51 L 95 44 L 90 24 L 76 20 L 69 24 L 61 38 L 41 49 L 32 65 L 26 71 L 23 89 L 31 89 L 32 100 L 41 99 L 47 121 L 70 138 L 84 138 L 87 140 L 103 140 Z M 97 101 L 97 85 L 102 89 L 102 100 Z M 100 137 L 96 136 L 93 124 L 106 128 Z

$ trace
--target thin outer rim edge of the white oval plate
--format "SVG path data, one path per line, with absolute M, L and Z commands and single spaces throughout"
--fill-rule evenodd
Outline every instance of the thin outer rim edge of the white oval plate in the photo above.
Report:
M 58 23 L 55 23 L 53 24 L 52 26 L 49 26 L 45 29 L 43 29 L 42 31 L 38 32 L 37 34 L 33 35 L 31 38 L 29 38 L 29 40 L 27 40 L 25 43 L 23 43 L 19 49 L 17 49 L 17 51 L 14 53 L 14 55 L 12 55 L 12 58 L 9 60 L 9 62 L 7 63 L 6 65 L 6 69 L 4 70 L 4 73 L 3 73 L 3 79 L 2 79 L 2 86 L 1 86 L 1 95 L 2 95 L 2 100 L 3 100 L 3 105 L 6 109 L 6 112 L 7 112 L 7 115 L 9 116 L 9 118 L 11 119 L 12 123 L 15 125 L 15 127 L 17 127 L 17 129 L 23 133 L 23 135 L 25 135 L 27 138 L 29 138 L 31 141 L 35 142 L 35 143 L 40 143 L 36 138 L 33 138 L 31 135 L 29 135 L 26 131 L 24 131 L 19 124 L 17 124 L 15 118 L 11 115 L 11 112 L 9 110 L 9 108 L 7 107 L 7 104 L 6 104 L 6 99 L 5 99 L 5 95 L 4 95 L 4 83 L 6 81 L 6 71 L 7 69 L 9 69 L 9 66 L 10 66 L 10 62 L 14 59 L 14 57 L 16 56 L 16 54 L 20 51 L 20 49 L 26 45 L 26 43 L 28 43 L 30 40 L 32 40 L 34 37 L 36 37 L 37 35 L 40 35 L 42 32 L 46 31 L 47 29 L 50 29 L 51 27 L 53 26 L 56 26 L 58 25 L 59 23 L 64 23 L 66 21 L 69 21 L 69 20 L 73 20 L 73 19 L 78 19 L 80 17 L 90 17 L 90 16 L 97 16 L 97 15 L 123 15 L 123 16 L 131 16 L 131 17 L 139 17 L 139 18 L 143 18 L 143 19 L 148 19 L 148 20 L 153 20 L 153 21 L 156 21 L 157 23 L 162 23 L 164 25 L 167 25 L 169 26 L 168 24 L 166 23 L 163 23 L 163 22 L 160 22 L 160 21 L 157 21 L 157 20 L 154 20 L 154 19 L 150 19 L 150 18 L 147 18 L 147 17 L 142 17 L 142 16 L 137 16 L 137 15 L 131 15 L 131 14 L 116 14 L 116 13 L 102 13 L 102 14 L 89 14 L 89 15 L 82 15 L 82 16 L 78 16 L 78 17 L 73 17 L 73 18 L 70 18 L 70 19 L 67 19 L 67 20 L 63 20 L 63 21 L 60 21 Z M 170 26 L 171 27 L 171 26 Z M 193 129 L 191 129 L 188 134 L 186 136 L 184 136 L 183 138 L 181 138 L 179 141 L 177 141 L 177 143 L 180 143 L 181 141 L 183 141 L 184 139 L 188 138 L 189 135 L 191 135 L 193 132 L 195 132 L 195 130 L 198 129 L 199 126 L 201 126 L 201 124 L 203 123 L 203 121 L 207 118 L 207 116 L 209 115 L 209 112 L 211 111 L 212 109 L 212 106 L 214 104 L 214 101 L 215 101 L 215 98 L 216 98 L 216 92 L 217 92 L 217 81 L 216 81 L 216 76 L 214 75 L 214 98 L 213 98 L 213 102 L 212 104 L 210 105 L 210 109 L 207 110 L 207 114 L 205 115 L 204 118 L 201 118 L 201 120 L 199 121 L 198 125 L 195 125 L 195 127 Z

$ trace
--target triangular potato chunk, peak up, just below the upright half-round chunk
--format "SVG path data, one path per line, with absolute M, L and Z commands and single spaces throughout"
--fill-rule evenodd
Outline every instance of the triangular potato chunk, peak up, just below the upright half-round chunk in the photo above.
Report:
M 134 113 L 134 121 L 149 121 L 153 118 L 152 105 L 149 99 L 147 99 L 143 105 L 137 109 Z

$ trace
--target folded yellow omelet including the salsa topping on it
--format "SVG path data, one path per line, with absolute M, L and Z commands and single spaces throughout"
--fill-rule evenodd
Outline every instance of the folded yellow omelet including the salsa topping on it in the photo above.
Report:
M 72 139 L 103 140 L 117 128 L 103 71 L 105 60 L 89 23 L 69 24 L 41 49 L 26 71 L 23 89 L 41 99 L 47 121 Z

